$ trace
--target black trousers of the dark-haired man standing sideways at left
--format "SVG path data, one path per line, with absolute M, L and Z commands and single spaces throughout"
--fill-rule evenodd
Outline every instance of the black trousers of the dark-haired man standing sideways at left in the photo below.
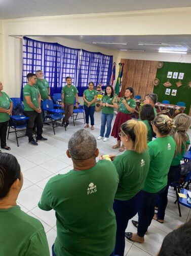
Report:
M 33 139 L 32 130 L 34 124 L 36 125 L 36 136 L 37 138 L 42 138 L 43 133 L 43 119 L 41 113 L 36 111 L 24 111 L 24 115 L 28 117 L 26 125 L 26 135 L 28 136 L 28 141 L 30 142 Z

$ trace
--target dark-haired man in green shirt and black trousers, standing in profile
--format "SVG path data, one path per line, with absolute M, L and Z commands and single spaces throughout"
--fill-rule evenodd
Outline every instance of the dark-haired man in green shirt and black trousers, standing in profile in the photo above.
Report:
M 23 88 L 24 113 L 29 119 L 27 120 L 26 135 L 28 142 L 37 146 L 37 140 L 47 140 L 42 136 L 43 119 L 41 116 L 41 95 L 36 87 L 36 75 L 33 73 L 27 74 L 28 83 Z M 36 141 L 33 139 L 32 131 L 36 125 Z

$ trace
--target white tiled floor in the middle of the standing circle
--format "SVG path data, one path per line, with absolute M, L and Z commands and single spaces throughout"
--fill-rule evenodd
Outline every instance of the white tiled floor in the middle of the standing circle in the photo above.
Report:
M 100 114 L 100 112 L 95 112 L 95 129 L 91 131 L 89 128 L 89 131 L 92 132 L 95 137 L 100 135 Z M 48 141 L 40 141 L 39 146 L 36 147 L 29 145 L 27 137 L 23 137 L 19 138 L 18 148 L 13 133 L 7 141 L 7 145 L 11 147 L 10 153 L 17 157 L 24 176 L 24 185 L 18 197 L 18 204 L 23 211 L 42 221 L 45 231 L 47 232 L 50 249 L 56 238 L 55 213 L 54 211 L 46 212 L 40 210 L 37 207 L 37 203 L 40 200 L 43 188 L 50 178 L 57 174 L 65 174 L 72 169 L 72 161 L 66 156 L 65 152 L 69 137 L 80 128 L 84 128 L 83 120 L 76 121 L 75 126 L 73 126 L 73 123 L 70 121 L 67 131 L 65 131 L 63 127 L 57 127 L 55 129 L 56 135 L 53 135 L 53 129 L 50 126 L 45 126 L 43 135 L 48 138 Z M 190 129 L 189 135 L 191 135 Z M 100 154 L 119 154 L 118 149 L 111 149 L 111 146 L 114 144 L 116 144 L 116 140 L 113 137 L 109 137 L 106 142 L 97 140 Z M 171 232 L 177 225 L 184 223 L 191 217 L 191 212 L 188 208 L 180 207 L 182 217 L 178 215 L 178 208 L 177 205 L 174 204 L 174 198 L 169 196 L 165 223 L 161 224 L 153 220 L 149 227 L 148 235 L 145 235 L 144 244 L 132 243 L 126 240 L 124 255 L 156 255 L 167 233 Z M 137 216 L 135 216 L 134 219 L 137 219 Z M 131 221 L 129 221 L 127 231 L 136 232 Z

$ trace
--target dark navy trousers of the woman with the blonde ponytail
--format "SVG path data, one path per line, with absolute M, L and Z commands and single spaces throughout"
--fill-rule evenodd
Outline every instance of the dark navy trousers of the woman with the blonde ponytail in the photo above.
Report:
M 125 250 L 125 230 L 129 219 L 134 217 L 139 211 L 142 204 L 142 190 L 138 192 L 130 200 L 114 200 L 113 210 L 116 214 L 117 233 L 116 233 L 116 247 L 114 248 L 114 255 L 124 255 Z

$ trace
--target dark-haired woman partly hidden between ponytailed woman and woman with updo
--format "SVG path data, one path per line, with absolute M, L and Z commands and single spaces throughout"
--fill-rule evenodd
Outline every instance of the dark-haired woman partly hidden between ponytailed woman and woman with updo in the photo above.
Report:
M 142 121 L 147 127 L 147 142 L 152 140 L 152 125 L 151 122 L 155 119 L 155 112 L 150 104 L 145 104 L 142 106 L 140 121 Z

